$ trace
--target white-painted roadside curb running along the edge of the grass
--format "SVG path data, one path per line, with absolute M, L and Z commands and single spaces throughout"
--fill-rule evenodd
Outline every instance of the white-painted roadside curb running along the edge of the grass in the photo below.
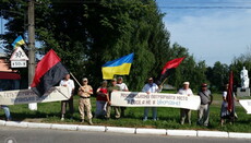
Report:
M 116 133 L 151 134 L 151 135 L 168 135 L 168 136 L 178 135 L 178 136 L 199 136 L 199 138 L 206 136 L 206 138 L 251 139 L 251 133 L 201 131 L 201 130 L 198 131 L 196 130 L 166 130 L 166 129 L 146 129 L 146 128 L 38 123 L 38 122 L 4 121 L 4 120 L 0 120 L 0 126 L 33 128 L 33 129 L 116 132 Z

